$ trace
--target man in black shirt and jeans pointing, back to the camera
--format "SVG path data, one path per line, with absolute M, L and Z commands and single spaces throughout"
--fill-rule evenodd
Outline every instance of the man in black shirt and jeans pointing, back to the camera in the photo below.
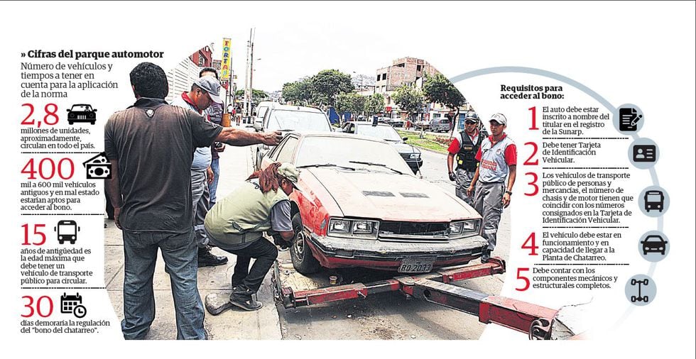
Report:
M 104 150 L 112 164 L 107 193 L 124 239 L 121 330 L 126 339 L 145 338 L 155 318 L 152 282 L 159 249 L 172 282 L 177 338 L 205 339 L 192 231 L 193 151 L 214 141 L 278 145 L 281 133 L 222 128 L 168 105 L 167 76 L 150 62 L 137 65 L 130 77 L 136 103 L 113 114 L 104 127 Z

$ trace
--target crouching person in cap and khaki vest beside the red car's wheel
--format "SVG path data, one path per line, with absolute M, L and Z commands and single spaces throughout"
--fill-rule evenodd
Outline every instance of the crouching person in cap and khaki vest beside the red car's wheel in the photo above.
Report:
M 263 277 L 278 257 L 278 248 L 263 238 L 263 232 L 270 232 L 281 248 L 287 247 L 295 236 L 288 196 L 296 188 L 298 176 L 292 164 L 273 163 L 252 173 L 205 216 L 205 232 L 210 243 L 237 256 L 229 304 L 249 311 L 263 306 L 252 295 L 259 290 Z M 251 258 L 256 260 L 249 269 Z M 211 310 L 207 302 L 206 299 L 208 311 L 214 315 L 229 308 Z

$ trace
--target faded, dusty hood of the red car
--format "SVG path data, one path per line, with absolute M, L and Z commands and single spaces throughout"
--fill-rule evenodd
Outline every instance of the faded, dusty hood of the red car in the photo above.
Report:
M 411 175 L 312 167 L 302 171 L 331 194 L 342 211 L 332 216 L 419 222 L 481 218 L 454 194 Z

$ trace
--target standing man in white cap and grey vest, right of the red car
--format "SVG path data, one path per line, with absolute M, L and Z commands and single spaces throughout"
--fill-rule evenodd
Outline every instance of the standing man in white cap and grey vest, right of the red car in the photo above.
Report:
M 504 114 L 494 114 L 489 123 L 491 136 L 483 140 L 476 154 L 479 167 L 467 189 L 467 194 L 474 193 L 474 209 L 483 216 L 484 238 L 488 240 L 488 248 L 481 257 L 482 262 L 489 260 L 496 247 L 500 216 L 510 204 L 517 173 L 517 147 L 504 132 L 508 124 L 507 118 Z

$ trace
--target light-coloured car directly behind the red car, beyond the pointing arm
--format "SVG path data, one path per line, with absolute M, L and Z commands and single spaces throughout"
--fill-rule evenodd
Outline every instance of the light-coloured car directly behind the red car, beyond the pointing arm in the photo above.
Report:
M 254 122 L 256 131 L 326 131 L 331 132 L 331 123 L 326 114 L 316 107 L 288 106 L 275 104 L 269 106 L 261 121 Z M 261 166 L 261 159 L 273 149 L 272 146 L 256 145 L 255 168 Z

